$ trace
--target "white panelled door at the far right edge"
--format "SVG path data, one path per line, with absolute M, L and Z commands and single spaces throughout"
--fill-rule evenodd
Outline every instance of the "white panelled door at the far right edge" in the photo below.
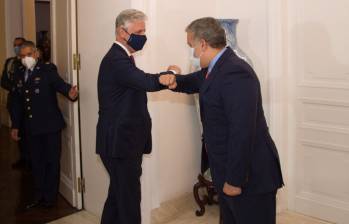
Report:
M 293 209 L 349 223 L 349 2 L 289 2 Z

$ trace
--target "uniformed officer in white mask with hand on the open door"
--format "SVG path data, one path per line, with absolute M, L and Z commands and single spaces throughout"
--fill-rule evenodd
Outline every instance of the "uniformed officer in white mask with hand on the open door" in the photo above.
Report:
M 50 208 L 58 194 L 61 131 L 65 127 L 56 93 L 75 101 L 78 90 L 63 81 L 55 65 L 38 62 L 33 42 L 23 43 L 20 57 L 23 66 L 14 74 L 11 136 L 20 140 L 18 128 L 23 119 L 35 184 L 35 200 L 26 208 Z

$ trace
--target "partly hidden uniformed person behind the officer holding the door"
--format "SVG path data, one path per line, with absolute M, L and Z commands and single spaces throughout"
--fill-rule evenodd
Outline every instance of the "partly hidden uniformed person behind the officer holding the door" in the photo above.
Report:
M 7 94 L 7 110 L 10 112 L 11 108 L 11 95 L 12 95 L 12 89 L 14 88 L 14 80 L 13 80 L 13 75 L 19 66 L 21 66 L 21 60 L 19 57 L 19 51 L 21 49 L 22 44 L 25 42 L 25 39 L 23 37 L 16 37 L 13 41 L 13 50 L 15 53 L 14 57 L 10 57 L 6 59 L 5 64 L 4 64 L 4 69 L 2 71 L 2 76 L 1 76 L 1 87 L 4 88 L 5 90 L 8 91 Z M 29 166 L 29 153 L 28 149 L 25 147 L 25 136 L 23 133 L 23 128 L 19 128 L 21 140 L 18 142 L 18 148 L 19 148 L 19 160 L 13 163 L 12 167 L 14 169 L 17 168 L 23 168 L 25 166 Z

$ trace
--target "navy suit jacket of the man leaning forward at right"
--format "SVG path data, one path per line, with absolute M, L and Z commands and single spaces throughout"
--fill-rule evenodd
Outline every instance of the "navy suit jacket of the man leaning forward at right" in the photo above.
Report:
M 204 141 L 218 191 L 225 182 L 245 194 L 283 185 L 279 155 L 264 117 L 258 78 L 228 48 L 206 79 L 207 69 L 177 76 L 175 91 L 200 93 Z

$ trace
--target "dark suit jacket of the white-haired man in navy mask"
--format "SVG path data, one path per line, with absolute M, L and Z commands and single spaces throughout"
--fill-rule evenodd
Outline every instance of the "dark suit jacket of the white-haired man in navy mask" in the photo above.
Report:
M 146 92 L 165 88 L 159 76 L 144 73 L 124 49 L 112 45 L 98 74 L 97 154 L 127 158 L 151 152 L 152 123 Z

